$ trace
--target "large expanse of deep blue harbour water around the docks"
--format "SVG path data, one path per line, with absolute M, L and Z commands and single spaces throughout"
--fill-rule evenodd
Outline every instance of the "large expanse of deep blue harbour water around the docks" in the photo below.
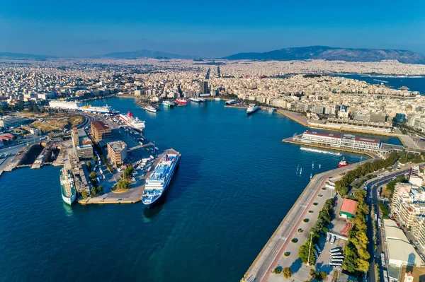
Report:
M 305 127 L 277 113 L 246 117 L 224 102 L 157 114 L 132 99 L 93 104 L 105 102 L 145 119 L 145 135 L 160 149 L 182 153 L 164 203 L 149 211 L 142 204 L 71 208 L 62 202 L 60 168 L 7 172 L 0 177 L 0 281 L 239 281 L 310 174 L 341 160 L 283 143 Z

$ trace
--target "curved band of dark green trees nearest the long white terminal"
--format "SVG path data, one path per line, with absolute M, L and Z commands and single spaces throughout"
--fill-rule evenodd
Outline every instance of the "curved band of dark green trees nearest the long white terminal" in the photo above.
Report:
M 356 180 L 358 177 L 363 177 L 368 175 L 371 172 L 375 172 L 377 170 L 382 170 L 382 168 L 387 168 L 390 165 L 394 165 L 397 161 L 398 154 L 396 152 L 391 153 L 391 155 L 385 160 L 375 160 L 372 163 L 364 163 L 363 165 L 358 166 L 356 169 L 351 170 L 341 178 L 335 182 L 335 190 L 341 196 L 345 196 L 348 194 L 349 185 Z

